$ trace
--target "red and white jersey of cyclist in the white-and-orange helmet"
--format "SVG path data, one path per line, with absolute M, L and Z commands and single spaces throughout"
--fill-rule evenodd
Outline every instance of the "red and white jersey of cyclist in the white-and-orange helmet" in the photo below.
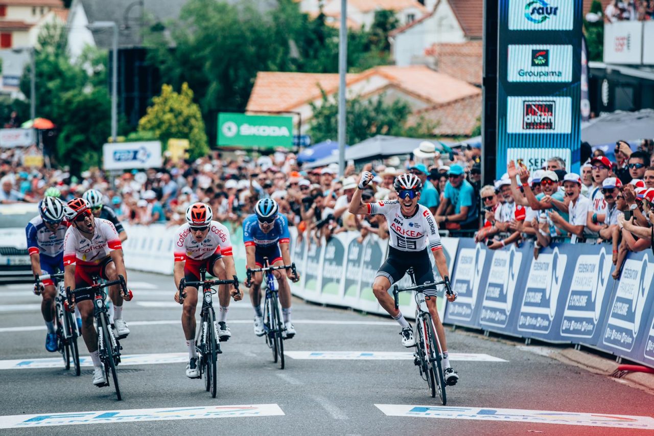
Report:
M 209 232 L 201 242 L 191 234 L 188 223 L 177 229 L 175 238 L 175 262 L 184 262 L 186 259 L 201 261 L 208 259 L 213 254 L 223 256 L 232 255 L 232 241 L 230 231 L 218 221 L 211 221 Z

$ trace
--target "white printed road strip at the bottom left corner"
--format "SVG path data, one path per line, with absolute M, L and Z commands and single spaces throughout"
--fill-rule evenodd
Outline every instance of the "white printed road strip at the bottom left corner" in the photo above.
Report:
M 116 422 L 198 420 L 204 418 L 245 418 L 248 416 L 281 415 L 284 415 L 284 412 L 277 404 L 99 410 L 95 412 L 0 416 L 0 428 L 35 428 L 74 426 L 77 424 L 114 424 Z

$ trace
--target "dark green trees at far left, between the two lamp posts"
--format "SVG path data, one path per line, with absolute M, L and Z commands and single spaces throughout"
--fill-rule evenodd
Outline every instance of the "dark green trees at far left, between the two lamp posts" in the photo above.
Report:
M 107 90 L 107 52 L 89 48 L 75 64 L 67 54 L 65 27 L 46 25 L 39 35 L 36 60 L 37 117 L 58 128 L 53 156 L 71 172 L 101 164 L 102 145 L 111 130 L 111 100 Z M 20 81 L 29 96 L 30 67 Z M 29 111 L 20 109 L 23 119 Z

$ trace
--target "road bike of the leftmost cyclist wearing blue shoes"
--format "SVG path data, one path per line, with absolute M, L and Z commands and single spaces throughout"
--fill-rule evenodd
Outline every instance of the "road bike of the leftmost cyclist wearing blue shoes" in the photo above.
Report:
M 57 326 L 57 350 L 63 357 L 63 365 L 66 370 L 71 369 L 71 361 L 75 368 L 75 375 L 80 374 L 80 355 L 77 350 L 77 338 L 80 332 L 77 329 L 75 316 L 68 310 L 66 291 L 63 288 L 63 272 L 57 274 L 42 274 L 37 276 L 37 286 L 44 280 L 51 279 L 57 288 L 57 295 L 54 297 L 54 322 Z

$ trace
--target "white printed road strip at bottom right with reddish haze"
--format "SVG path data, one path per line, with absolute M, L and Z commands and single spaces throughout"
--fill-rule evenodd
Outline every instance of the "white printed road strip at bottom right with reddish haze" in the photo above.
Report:
M 549 410 L 494 409 L 480 407 L 410 406 L 375 404 L 386 416 L 417 416 L 454 420 L 510 421 L 566 426 L 619 427 L 654 430 L 651 416 L 601 413 L 552 412 Z

